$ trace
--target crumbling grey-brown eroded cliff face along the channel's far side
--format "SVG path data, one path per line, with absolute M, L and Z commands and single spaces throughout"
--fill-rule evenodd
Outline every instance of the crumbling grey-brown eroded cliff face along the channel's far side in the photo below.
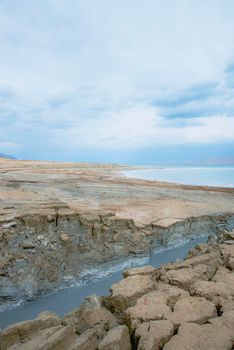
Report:
M 113 214 L 47 210 L 0 224 L 0 301 L 29 300 L 67 278 L 113 259 L 150 254 L 170 241 L 233 226 L 234 216 L 188 218 L 169 227 L 137 227 Z

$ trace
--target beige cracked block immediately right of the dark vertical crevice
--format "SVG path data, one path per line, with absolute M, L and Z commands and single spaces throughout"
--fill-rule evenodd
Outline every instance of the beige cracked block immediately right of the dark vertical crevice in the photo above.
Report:
M 137 300 L 135 306 L 126 310 L 126 324 L 133 332 L 142 322 L 151 320 L 162 320 L 169 318 L 172 313 L 167 305 L 168 296 L 161 292 L 152 292 L 145 294 Z

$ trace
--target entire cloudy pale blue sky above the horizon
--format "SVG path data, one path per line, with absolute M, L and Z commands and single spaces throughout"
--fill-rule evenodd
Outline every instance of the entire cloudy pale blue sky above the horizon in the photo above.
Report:
M 0 0 L 0 152 L 234 162 L 234 1 Z

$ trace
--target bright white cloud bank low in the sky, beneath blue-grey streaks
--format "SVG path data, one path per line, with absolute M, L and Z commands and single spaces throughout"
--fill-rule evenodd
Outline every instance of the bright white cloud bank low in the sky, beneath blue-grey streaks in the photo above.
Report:
M 65 148 L 100 150 L 234 141 L 233 117 L 201 117 L 188 119 L 186 124 L 173 126 L 156 109 L 140 106 L 58 129 L 53 139 L 62 141 Z

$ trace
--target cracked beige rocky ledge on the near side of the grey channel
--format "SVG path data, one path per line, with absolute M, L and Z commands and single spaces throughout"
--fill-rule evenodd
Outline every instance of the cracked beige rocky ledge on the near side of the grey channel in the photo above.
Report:
M 124 271 L 107 297 L 63 318 L 45 312 L 0 333 L 6 350 L 231 350 L 234 231 L 191 249 L 183 262 Z

